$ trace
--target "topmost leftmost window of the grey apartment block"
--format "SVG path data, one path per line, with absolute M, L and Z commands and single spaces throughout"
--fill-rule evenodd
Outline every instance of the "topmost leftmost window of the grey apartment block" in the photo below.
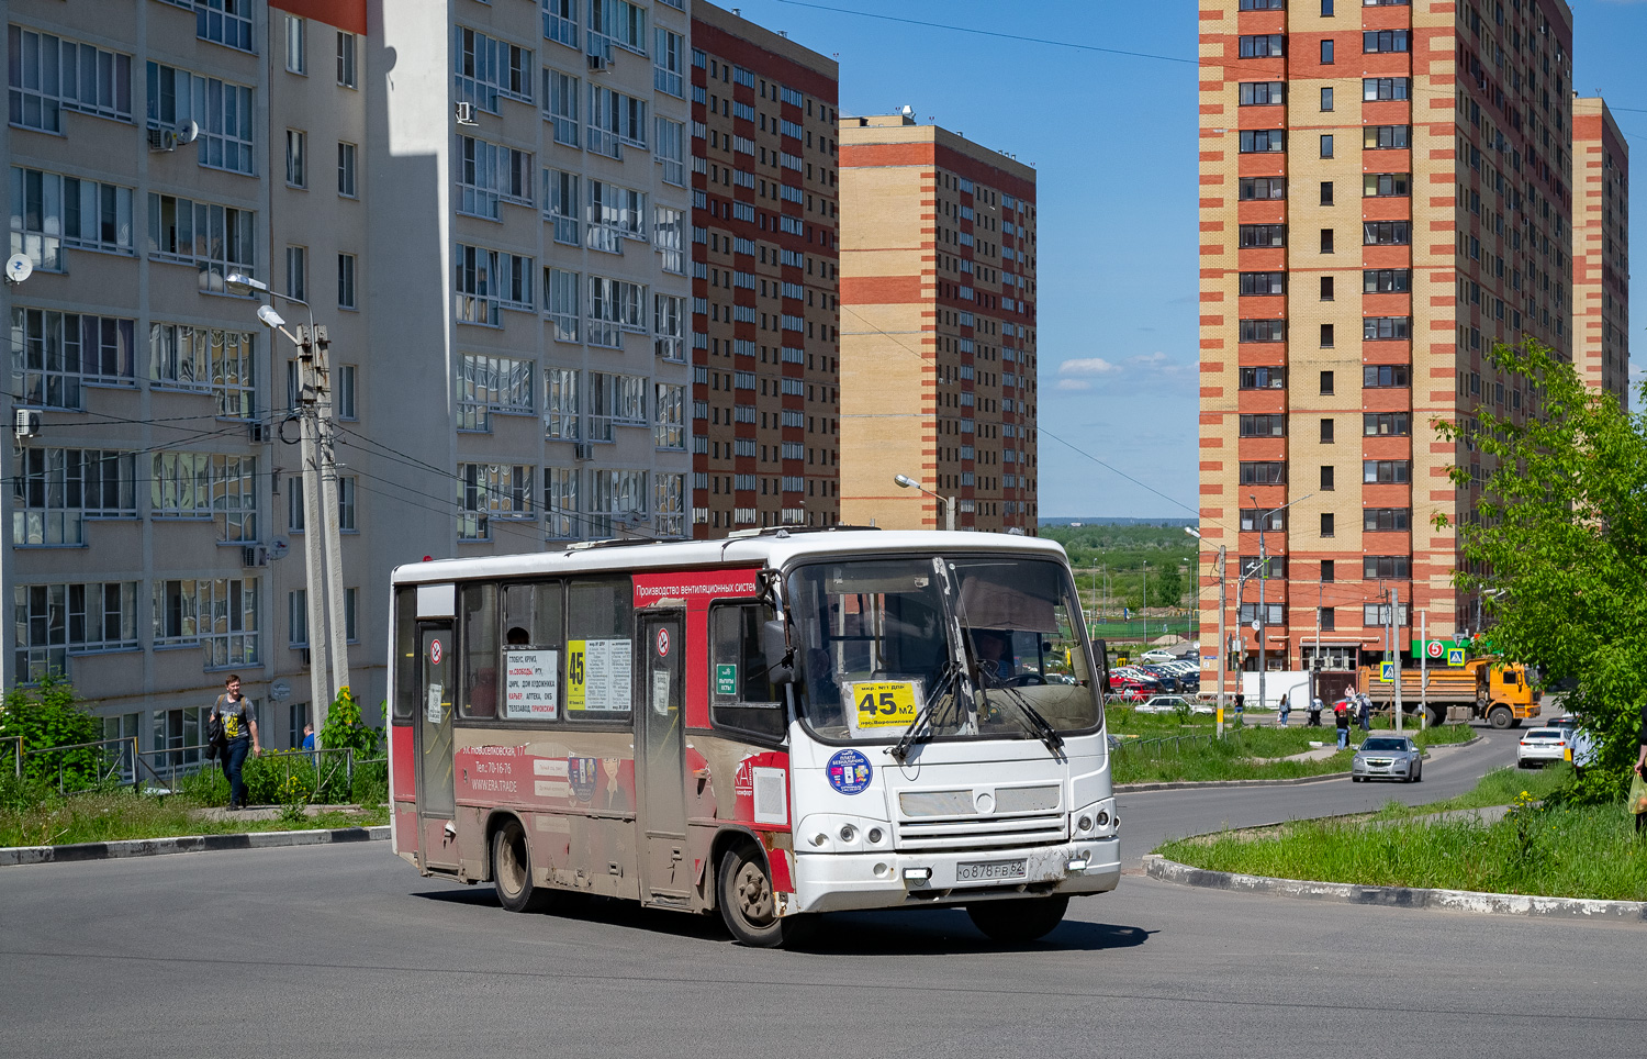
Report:
M 63 132 L 63 112 L 132 120 L 132 56 L 7 26 L 10 122 Z

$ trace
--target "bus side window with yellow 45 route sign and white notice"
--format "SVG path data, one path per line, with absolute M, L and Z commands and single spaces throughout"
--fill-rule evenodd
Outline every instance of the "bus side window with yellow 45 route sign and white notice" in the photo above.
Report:
M 560 675 L 563 716 L 570 721 L 628 721 L 634 674 L 634 588 L 629 578 L 572 581 L 567 586 L 565 654 Z

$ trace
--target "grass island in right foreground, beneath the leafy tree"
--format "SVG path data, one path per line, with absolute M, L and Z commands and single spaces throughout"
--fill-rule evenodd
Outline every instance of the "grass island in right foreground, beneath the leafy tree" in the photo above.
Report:
M 1446 802 L 1202 835 L 1156 851 L 1197 868 L 1290 879 L 1647 901 L 1647 842 L 1622 805 L 1525 807 L 1495 823 L 1416 819 L 1514 804 L 1523 792 L 1538 799 L 1570 777 L 1565 764 L 1537 774 L 1500 769 Z

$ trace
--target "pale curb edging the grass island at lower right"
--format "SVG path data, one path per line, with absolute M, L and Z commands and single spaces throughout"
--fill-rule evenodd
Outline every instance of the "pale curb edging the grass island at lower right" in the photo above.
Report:
M 1570 919 L 1647 921 L 1644 901 L 1591 901 L 1588 898 L 1540 898 L 1530 894 L 1489 894 L 1471 889 L 1420 889 L 1415 886 L 1360 886 L 1357 883 L 1311 883 L 1278 879 L 1265 875 L 1209 871 L 1192 868 L 1159 853 L 1143 858 L 1145 875 L 1163 883 L 1225 889 L 1248 894 L 1276 894 L 1341 904 L 1370 904 L 1439 912 L 1476 912 L 1487 916 L 1547 916 Z

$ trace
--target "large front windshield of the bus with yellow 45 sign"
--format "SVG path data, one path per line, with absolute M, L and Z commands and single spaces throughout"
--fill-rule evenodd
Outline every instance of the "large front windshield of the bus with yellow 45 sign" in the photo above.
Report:
M 789 575 L 799 705 L 822 738 L 1041 738 L 1099 723 L 1064 567 L 1019 555 L 843 560 Z M 957 637 L 965 637 L 957 642 Z M 963 664 L 957 659 L 963 659 Z

